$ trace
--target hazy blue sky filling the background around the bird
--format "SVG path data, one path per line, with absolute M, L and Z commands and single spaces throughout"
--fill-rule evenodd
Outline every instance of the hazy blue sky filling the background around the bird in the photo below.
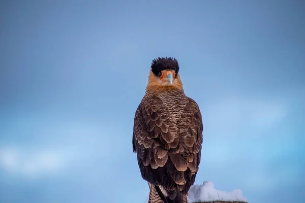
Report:
M 0 202 L 144 202 L 132 152 L 151 60 L 200 106 L 196 184 L 305 198 L 303 1 L 1 1 Z

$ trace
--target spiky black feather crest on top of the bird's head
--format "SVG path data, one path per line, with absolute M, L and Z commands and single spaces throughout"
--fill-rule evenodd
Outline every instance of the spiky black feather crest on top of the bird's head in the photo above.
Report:
M 179 72 L 179 64 L 177 59 L 172 58 L 172 57 L 162 57 L 162 58 L 156 58 L 153 60 L 151 63 L 151 72 L 153 72 L 156 76 L 158 75 L 159 72 L 163 70 L 174 70 L 175 75 L 178 74 Z

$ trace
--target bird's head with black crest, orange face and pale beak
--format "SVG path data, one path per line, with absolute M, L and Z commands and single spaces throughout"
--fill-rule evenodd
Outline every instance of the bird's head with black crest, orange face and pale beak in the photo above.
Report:
M 178 72 L 179 64 L 175 58 L 159 57 L 154 59 L 151 63 L 146 89 L 148 91 L 182 89 Z

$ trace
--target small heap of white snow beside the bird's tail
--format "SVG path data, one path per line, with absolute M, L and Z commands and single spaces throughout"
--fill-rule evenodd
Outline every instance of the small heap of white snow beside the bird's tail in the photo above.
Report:
M 193 185 L 189 190 L 189 202 L 216 200 L 248 201 L 247 198 L 242 195 L 242 191 L 240 189 L 235 189 L 231 192 L 216 190 L 214 188 L 214 183 L 210 181 L 204 181 L 202 185 Z

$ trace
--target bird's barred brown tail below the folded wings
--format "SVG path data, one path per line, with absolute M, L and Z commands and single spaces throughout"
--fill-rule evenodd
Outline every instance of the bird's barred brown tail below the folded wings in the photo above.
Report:
M 148 203 L 188 203 L 187 195 L 180 191 L 166 191 L 162 186 L 149 184 Z

